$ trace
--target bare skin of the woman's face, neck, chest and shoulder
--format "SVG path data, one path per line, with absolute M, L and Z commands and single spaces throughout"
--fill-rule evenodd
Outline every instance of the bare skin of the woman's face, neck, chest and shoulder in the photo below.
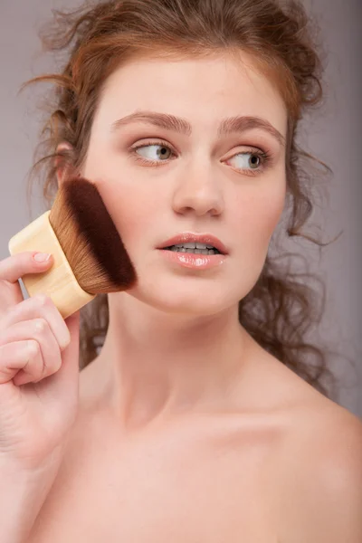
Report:
M 359 426 L 253 342 L 238 320 L 238 301 L 262 271 L 286 192 L 284 149 L 274 139 L 258 130 L 217 136 L 220 121 L 234 115 L 262 117 L 286 135 L 278 91 L 243 61 L 138 59 L 120 66 L 104 89 L 81 175 L 97 183 L 138 284 L 109 296 L 106 342 L 81 372 L 77 420 L 31 543 L 339 543 L 348 530 L 348 541 L 359 541 L 357 486 L 349 484 L 360 477 Z M 187 119 L 193 133 L 140 123 L 111 129 L 138 109 Z M 153 152 L 165 145 L 172 153 Z M 143 146 L 138 153 L 136 146 Z M 261 148 L 273 160 L 250 176 L 248 157 L 239 154 Z M 225 265 L 207 273 L 168 265 L 157 246 L 184 231 L 222 239 Z M 61 442 L 76 403 L 75 329 L 57 399 L 44 397 L 66 405 L 65 413 L 52 411 L 64 418 L 51 430 Z M 62 367 L 44 382 L 58 384 L 58 373 Z

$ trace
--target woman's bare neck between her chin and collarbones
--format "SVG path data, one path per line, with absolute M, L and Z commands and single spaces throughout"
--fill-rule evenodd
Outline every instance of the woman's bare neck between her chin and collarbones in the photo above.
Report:
M 124 294 L 92 363 L 94 385 L 126 428 L 157 418 L 230 409 L 251 359 L 238 308 L 212 316 L 167 314 Z

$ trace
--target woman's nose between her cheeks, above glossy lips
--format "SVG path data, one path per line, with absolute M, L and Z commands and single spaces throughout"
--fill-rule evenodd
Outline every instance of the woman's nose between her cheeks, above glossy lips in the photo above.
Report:
M 211 168 L 187 168 L 177 180 L 173 197 L 176 213 L 194 211 L 196 215 L 218 215 L 224 210 L 224 195 L 219 174 Z

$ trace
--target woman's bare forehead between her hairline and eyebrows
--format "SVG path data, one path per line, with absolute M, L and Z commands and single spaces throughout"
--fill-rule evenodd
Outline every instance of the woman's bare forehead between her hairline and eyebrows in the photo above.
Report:
M 165 110 L 187 115 L 201 105 L 210 114 L 227 110 L 230 116 L 270 116 L 285 126 L 286 111 L 273 81 L 258 67 L 229 57 L 170 61 L 150 57 L 125 62 L 110 74 L 103 92 L 103 108 L 116 115 L 134 110 Z M 105 113 L 105 112 L 104 112 Z M 282 119 L 281 119 L 282 118 Z

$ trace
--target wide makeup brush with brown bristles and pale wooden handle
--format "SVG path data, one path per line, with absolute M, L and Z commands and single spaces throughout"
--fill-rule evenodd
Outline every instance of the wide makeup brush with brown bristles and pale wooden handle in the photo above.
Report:
M 52 252 L 54 264 L 43 273 L 22 277 L 29 296 L 47 294 L 63 319 L 97 294 L 126 291 L 136 271 L 97 187 L 84 177 L 70 177 L 60 186 L 47 211 L 16 233 L 11 254 Z

